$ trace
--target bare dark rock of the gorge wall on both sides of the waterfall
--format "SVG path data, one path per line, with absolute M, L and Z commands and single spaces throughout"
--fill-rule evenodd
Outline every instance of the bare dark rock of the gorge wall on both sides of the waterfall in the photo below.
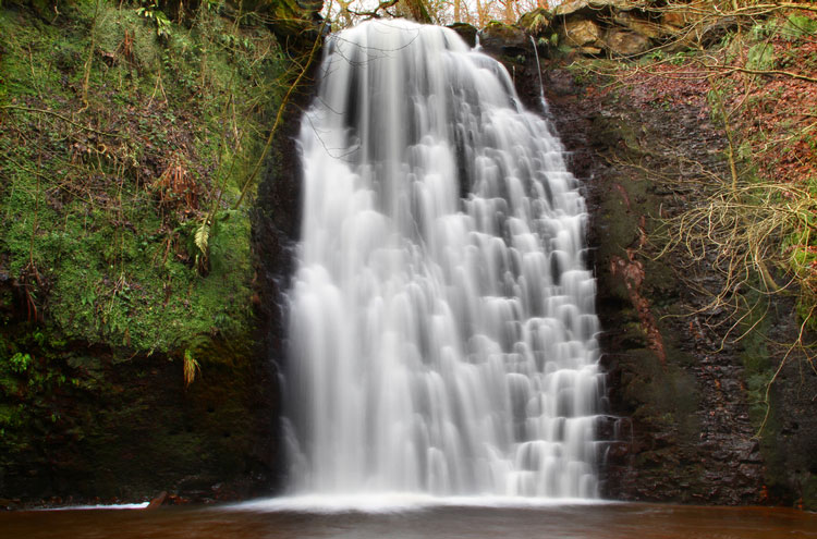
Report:
M 588 5 L 564 21 L 588 20 L 598 11 Z M 725 321 L 727 314 L 688 316 L 706 298 L 682 279 L 688 277 L 680 274 L 683 255 L 654 259 L 648 243 L 655 218 L 695 204 L 696 193 L 657 182 L 644 169 L 670 179 L 695 174 L 692 161 L 722 169 L 723 134 L 700 106 L 645 103 L 625 88 L 602 96 L 605 81 L 587 76 L 581 61 L 565 66 L 580 56 L 611 51 L 609 44 L 619 41 L 610 38 L 627 20 L 619 19 L 594 21 L 593 39 L 571 50 L 541 49 L 554 57 L 544 65 L 551 120 L 571 154 L 572 171 L 585 183 L 594 216 L 589 243 L 595 246 L 602 363 L 610 411 L 622 418 L 603 427 L 606 437 L 618 439 L 602 464 L 603 494 L 815 510 L 817 375 L 803 360 L 790 357 L 783 365 L 771 387 L 766 428 L 755 437 L 765 415 L 759 405 L 765 381 L 783 359 L 783 352 L 767 341 L 785 341 L 797 329 L 791 302 L 773 304 L 749 336 L 721 346 L 723 335 L 714 322 Z M 523 29 L 509 28 L 497 27 L 504 34 L 492 44 L 484 35 L 483 42 L 509 66 L 526 106 L 538 109 L 529 39 Z M 537 38 L 550 41 L 559 32 L 546 34 Z M 7 363 L 17 348 L 35 358 L 25 372 L 5 369 L 0 379 L 0 506 L 143 500 L 162 490 L 207 501 L 275 490 L 282 470 L 277 432 L 278 369 L 285 347 L 282 294 L 301 220 L 294 138 L 310 91 L 305 85 L 286 109 L 252 212 L 257 265 L 254 282 L 244 283 L 254 309 L 252 334 L 240 341 L 214 336 L 203 344 L 202 376 L 188 389 L 183 351 L 61 341 L 52 326 L 32 319 L 21 281 L 0 253 L 0 353 Z M 5 184 L 0 195 L 9 195 Z M 717 275 L 706 267 L 699 270 L 703 284 L 717 286 Z M 36 391 L 25 391 L 26 384 Z M 12 422 L 22 417 L 14 415 L 21 406 L 27 415 Z

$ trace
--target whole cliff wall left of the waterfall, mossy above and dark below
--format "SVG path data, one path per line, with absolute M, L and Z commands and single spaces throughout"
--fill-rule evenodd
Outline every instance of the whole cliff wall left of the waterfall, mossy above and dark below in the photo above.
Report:
M 316 26 L 261 3 L 0 7 L 0 507 L 273 488 L 252 171 L 300 47 L 267 15 Z

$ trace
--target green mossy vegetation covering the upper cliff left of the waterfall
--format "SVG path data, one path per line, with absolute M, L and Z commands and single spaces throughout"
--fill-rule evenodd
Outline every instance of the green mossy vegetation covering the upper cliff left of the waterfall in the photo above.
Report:
M 53 25 L 0 11 L 0 264 L 50 339 L 173 353 L 252 328 L 249 215 L 228 208 L 288 63 L 211 8 L 162 39 L 155 3 L 82 2 Z

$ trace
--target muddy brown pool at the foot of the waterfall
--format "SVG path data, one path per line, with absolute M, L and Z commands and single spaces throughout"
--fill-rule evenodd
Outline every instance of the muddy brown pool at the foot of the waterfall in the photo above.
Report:
M 0 538 L 817 538 L 817 515 L 646 504 L 314 513 L 244 507 L 0 513 Z

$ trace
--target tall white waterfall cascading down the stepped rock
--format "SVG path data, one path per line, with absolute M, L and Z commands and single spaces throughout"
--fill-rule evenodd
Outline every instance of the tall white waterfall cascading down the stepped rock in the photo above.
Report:
M 593 498 L 595 283 L 546 122 L 450 29 L 329 39 L 301 131 L 293 493 Z

